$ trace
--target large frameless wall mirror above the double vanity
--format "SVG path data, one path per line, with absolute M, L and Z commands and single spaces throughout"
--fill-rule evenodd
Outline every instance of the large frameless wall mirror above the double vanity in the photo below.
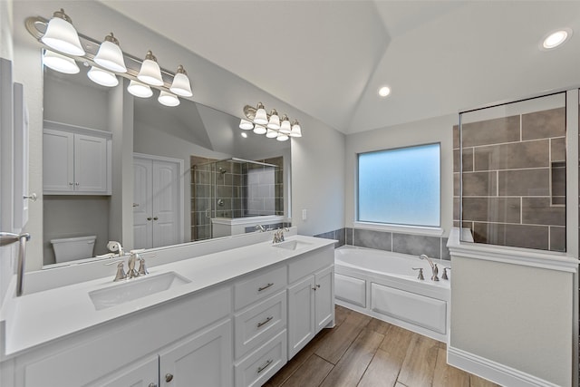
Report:
M 43 71 L 44 266 L 69 262 L 55 246 L 71 238 L 93 244 L 90 257 L 106 254 L 110 240 L 127 244 L 127 233 L 128 248 L 150 248 L 287 223 L 289 140 L 242 131 L 239 117 L 186 99 L 166 107 L 158 92 L 132 97 L 122 79 L 115 88 L 97 85 L 79 67 L 73 75 Z M 122 125 L 111 121 L 120 111 Z M 99 149 L 111 157 L 103 160 Z M 67 161 L 71 191 L 53 184 L 66 179 Z M 104 186 L 93 169 L 102 163 L 112 176 Z M 96 180 L 97 188 L 75 190 L 82 179 Z M 119 187 L 131 187 L 132 200 L 122 199 Z M 131 214 L 128 206 L 132 218 L 121 219 L 121 212 Z

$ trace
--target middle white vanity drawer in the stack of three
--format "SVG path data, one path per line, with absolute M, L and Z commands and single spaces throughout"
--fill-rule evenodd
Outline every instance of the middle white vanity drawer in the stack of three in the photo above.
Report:
M 236 358 L 266 342 L 286 325 L 286 292 L 282 291 L 235 317 Z

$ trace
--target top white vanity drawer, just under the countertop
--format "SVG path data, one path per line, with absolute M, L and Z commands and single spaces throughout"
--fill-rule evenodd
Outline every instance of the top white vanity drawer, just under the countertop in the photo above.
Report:
M 255 303 L 268 295 L 275 295 L 286 286 L 286 266 L 260 272 L 242 279 L 234 285 L 236 310 Z

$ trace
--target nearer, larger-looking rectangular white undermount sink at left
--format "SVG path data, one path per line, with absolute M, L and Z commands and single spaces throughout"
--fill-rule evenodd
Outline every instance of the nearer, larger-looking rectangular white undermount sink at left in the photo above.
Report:
M 146 295 L 154 295 L 170 288 L 188 284 L 186 279 L 174 272 L 159 276 L 147 276 L 131 279 L 120 285 L 112 285 L 104 289 L 89 292 L 92 304 L 96 310 L 102 310 L 115 305 L 121 305 Z

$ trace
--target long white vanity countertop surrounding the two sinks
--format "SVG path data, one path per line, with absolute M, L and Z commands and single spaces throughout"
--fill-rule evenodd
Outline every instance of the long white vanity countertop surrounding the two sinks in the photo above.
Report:
M 290 240 L 303 241 L 308 245 L 288 250 L 273 247 L 268 241 L 151 267 L 149 276 L 128 281 L 140 281 L 172 271 L 190 282 L 99 311 L 95 310 L 89 292 L 121 284 L 113 283 L 111 276 L 14 297 L 3 305 L 5 353 L 2 353 L 2 357 L 21 353 L 36 345 L 160 305 L 181 295 L 191 295 L 208 286 L 334 243 L 332 239 L 305 236 L 286 237 L 286 241 Z

